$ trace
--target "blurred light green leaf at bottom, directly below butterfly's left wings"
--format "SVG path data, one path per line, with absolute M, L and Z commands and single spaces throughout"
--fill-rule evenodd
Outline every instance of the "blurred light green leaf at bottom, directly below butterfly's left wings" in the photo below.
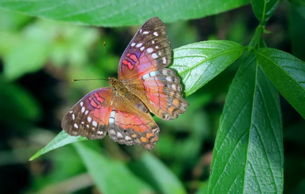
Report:
M 150 193 L 151 187 L 120 161 L 105 158 L 77 142 L 73 144 L 101 193 Z M 115 185 L 115 186 L 114 186 Z

